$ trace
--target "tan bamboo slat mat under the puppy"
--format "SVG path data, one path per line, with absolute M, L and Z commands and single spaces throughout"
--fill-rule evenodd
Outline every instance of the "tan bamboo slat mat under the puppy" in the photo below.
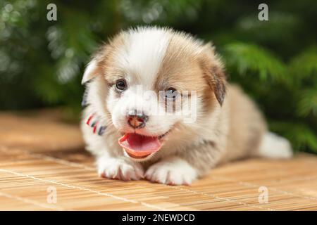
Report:
M 0 124 L 0 210 L 317 210 L 314 155 L 232 162 L 192 186 L 123 182 L 97 176 L 58 110 L 0 113 Z

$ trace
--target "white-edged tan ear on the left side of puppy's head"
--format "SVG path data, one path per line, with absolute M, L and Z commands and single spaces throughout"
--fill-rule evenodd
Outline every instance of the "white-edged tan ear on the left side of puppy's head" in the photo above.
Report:
M 108 45 L 104 45 L 94 54 L 94 57 L 88 63 L 84 75 L 82 76 L 82 84 L 85 84 L 90 79 L 102 74 L 102 64 L 106 61 L 108 49 Z

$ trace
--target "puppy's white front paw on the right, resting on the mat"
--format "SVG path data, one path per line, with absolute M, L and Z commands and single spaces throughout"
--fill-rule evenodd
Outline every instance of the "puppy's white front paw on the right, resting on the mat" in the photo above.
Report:
M 189 185 L 197 179 L 197 171 L 181 158 L 170 158 L 149 167 L 145 177 L 152 182 L 169 185 Z

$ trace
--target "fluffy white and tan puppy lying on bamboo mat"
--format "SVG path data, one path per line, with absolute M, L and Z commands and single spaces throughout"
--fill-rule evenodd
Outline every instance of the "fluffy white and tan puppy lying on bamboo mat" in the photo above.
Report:
M 185 185 L 251 156 L 290 158 L 211 44 L 168 28 L 120 32 L 87 65 L 82 133 L 98 173 Z

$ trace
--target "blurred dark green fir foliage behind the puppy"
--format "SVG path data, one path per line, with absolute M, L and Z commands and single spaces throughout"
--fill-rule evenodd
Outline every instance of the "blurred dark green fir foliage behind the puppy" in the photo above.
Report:
M 57 6 L 57 21 L 46 6 Z M 62 107 L 78 120 L 83 68 L 120 29 L 160 25 L 213 41 L 228 79 L 295 150 L 317 153 L 317 1 L 0 0 L 0 110 Z

